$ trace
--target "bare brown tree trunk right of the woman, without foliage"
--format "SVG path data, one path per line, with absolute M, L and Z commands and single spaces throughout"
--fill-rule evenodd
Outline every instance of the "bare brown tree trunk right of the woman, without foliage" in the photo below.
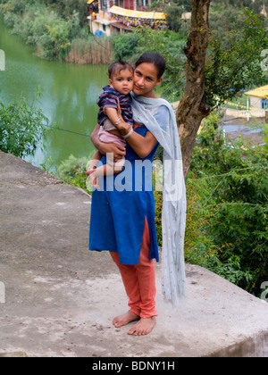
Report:
M 197 130 L 209 114 L 205 105 L 205 54 L 209 41 L 210 0 L 192 0 L 191 28 L 184 53 L 187 57 L 186 86 L 176 113 L 184 176 L 187 175 Z

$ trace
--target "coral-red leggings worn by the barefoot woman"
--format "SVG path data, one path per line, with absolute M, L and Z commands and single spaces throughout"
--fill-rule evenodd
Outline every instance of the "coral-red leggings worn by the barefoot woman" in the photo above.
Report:
M 121 273 L 121 279 L 129 297 L 130 311 L 141 318 L 156 316 L 155 310 L 155 262 L 149 261 L 150 233 L 145 221 L 139 262 L 135 265 L 120 264 L 118 253 L 110 252 Z

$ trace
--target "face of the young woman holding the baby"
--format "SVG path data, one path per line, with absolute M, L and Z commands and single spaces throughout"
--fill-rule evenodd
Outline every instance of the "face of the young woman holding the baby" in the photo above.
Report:
M 158 71 L 154 63 L 140 63 L 134 71 L 133 93 L 140 96 L 155 97 L 154 88 L 163 78 L 157 78 Z

